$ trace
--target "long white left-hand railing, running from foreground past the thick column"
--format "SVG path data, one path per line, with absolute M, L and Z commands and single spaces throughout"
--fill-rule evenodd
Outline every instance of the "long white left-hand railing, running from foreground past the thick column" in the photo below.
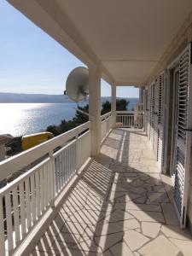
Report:
M 112 113 L 102 115 L 101 120 L 103 140 L 111 129 Z M 26 171 L 0 189 L 0 255 L 15 251 L 88 160 L 90 132 L 89 121 L 0 162 L 0 182 Z

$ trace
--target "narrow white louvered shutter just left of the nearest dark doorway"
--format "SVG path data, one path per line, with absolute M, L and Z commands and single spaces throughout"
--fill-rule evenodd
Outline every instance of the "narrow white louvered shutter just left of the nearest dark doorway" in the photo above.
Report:
M 159 101 L 158 101 L 158 141 L 157 141 L 157 161 L 160 166 L 163 162 L 163 122 L 164 122 L 164 87 L 165 73 L 159 76 Z

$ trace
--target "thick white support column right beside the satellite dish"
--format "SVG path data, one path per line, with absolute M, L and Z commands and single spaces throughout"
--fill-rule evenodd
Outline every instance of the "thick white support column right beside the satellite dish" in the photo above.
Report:
M 96 156 L 101 143 L 101 72 L 98 67 L 89 67 L 89 95 L 91 156 Z

